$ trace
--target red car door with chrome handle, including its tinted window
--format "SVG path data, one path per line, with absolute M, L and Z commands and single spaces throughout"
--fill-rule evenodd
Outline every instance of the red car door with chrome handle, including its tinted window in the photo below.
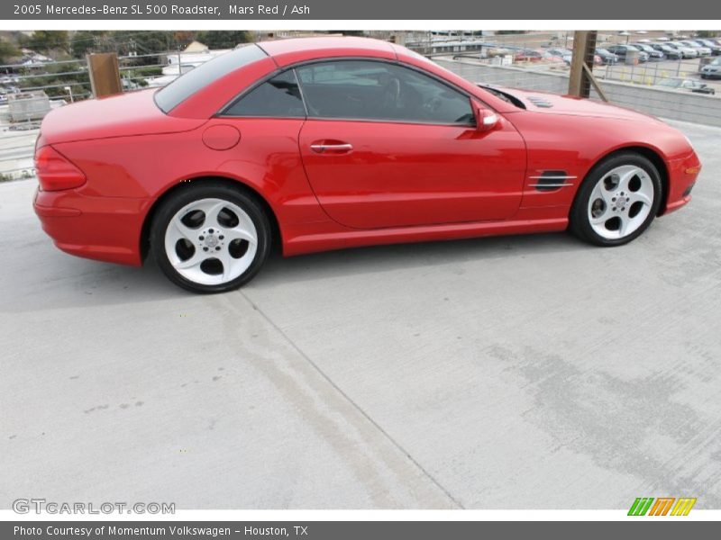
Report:
M 505 119 L 476 130 L 468 95 L 377 60 L 320 62 L 297 76 L 308 110 L 300 153 L 333 220 L 379 229 L 505 220 L 518 209 L 524 141 Z

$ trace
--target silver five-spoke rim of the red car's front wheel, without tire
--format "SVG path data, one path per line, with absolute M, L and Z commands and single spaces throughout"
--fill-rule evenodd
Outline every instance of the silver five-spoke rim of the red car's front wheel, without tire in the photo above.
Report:
M 625 238 L 643 225 L 654 195 L 653 180 L 643 168 L 617 166 L 603 175 L 591 192 L 591 228 L 602 238 Z

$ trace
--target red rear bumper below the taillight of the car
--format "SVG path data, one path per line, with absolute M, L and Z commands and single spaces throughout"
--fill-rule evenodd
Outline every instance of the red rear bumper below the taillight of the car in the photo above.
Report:
M 140 266 L 141 230 L 150 199 L 94 197 L 78 190 L 38 191 L 33 208 L 59 249 L 78 257 Z

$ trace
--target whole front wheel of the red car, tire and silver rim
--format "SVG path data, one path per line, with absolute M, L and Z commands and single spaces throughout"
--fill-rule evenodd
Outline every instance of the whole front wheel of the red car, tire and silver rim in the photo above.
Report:
M 653 163 L 625 152 L 595 166 L 570 211 L 570 230 L 597 246 L 620 246 L 651 225 L 661 204 L 661 176 Z

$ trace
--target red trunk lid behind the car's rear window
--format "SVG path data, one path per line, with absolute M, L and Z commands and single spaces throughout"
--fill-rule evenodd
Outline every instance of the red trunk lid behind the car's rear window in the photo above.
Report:
M 204 119 L 175 118 L 160 111 L 155 90 L 142 90 L 64 105 L 42 120 L 47 144 L 108 139 L 132 135 L 174 133 L 196 129 Z

